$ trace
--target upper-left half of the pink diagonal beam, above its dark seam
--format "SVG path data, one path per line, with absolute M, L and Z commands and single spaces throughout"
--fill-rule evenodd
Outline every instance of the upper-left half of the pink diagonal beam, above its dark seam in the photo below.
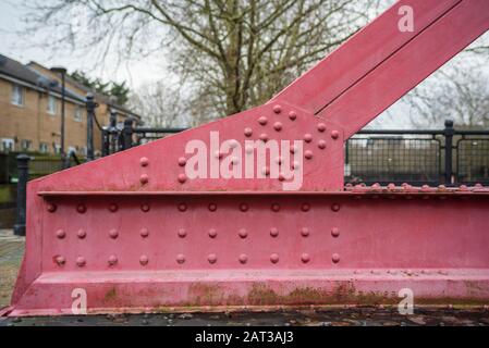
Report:
M 277 95 L 270 103 L 286 100 L 317 113 L 394 52 L 409 42 L 462 0 L 402 0 L 354 35 L 306 74 Z M 415 30 L 400 33 L 399 9 L 409 5 Z

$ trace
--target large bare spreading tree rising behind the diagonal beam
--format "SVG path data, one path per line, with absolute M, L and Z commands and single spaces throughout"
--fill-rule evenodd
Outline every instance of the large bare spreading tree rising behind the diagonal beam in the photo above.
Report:
M 391 0 L 49 0 L 30 28 L 121 61 L 166 50 L 208 119 L 262 103 Z M 206 121 L 206 117 L 203 117 Z

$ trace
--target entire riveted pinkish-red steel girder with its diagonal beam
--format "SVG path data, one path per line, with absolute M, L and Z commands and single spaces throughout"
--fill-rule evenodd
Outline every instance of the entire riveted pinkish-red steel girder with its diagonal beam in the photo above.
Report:
M 74 289 L 89 313 L 395 302 L 402 288 L 487 303 L 488 189 L 344 189 L 343 144 L 488 27 L 489 1 L 399 1 L 265 105 L 30 182 L 11 314 L 71 313 Z M 247 176 L 247 140 L 285 144 L 252 158 L 262 176 Z M 192 144 L 208 176 L 188 177 Z

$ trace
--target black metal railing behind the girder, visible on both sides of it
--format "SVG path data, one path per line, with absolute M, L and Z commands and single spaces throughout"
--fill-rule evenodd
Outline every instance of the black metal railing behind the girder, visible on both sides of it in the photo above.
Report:
M 185 128 L 124 127 L 103 130 L 103 156 L 129 149 Z M 366 129 L 345 142 L 345 183 L 371 185 L 489 185 L 489 130 Z

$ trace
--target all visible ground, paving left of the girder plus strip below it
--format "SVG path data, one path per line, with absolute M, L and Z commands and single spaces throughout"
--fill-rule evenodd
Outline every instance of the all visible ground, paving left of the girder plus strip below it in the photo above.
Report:
M 24 238 L 0 229 L 0 308 L 10 303 L 22 256 Z M 489 310 L 415 309 L 414 315 L 400 315 L 396 308 L 335 308 L 329 310 L 282 311 L 272 313 L 180 313 L 140 315 L 93 315 L 0 319 L 0 326 L 40 325 L 269 325 L 269 326 L 489 326 Z

